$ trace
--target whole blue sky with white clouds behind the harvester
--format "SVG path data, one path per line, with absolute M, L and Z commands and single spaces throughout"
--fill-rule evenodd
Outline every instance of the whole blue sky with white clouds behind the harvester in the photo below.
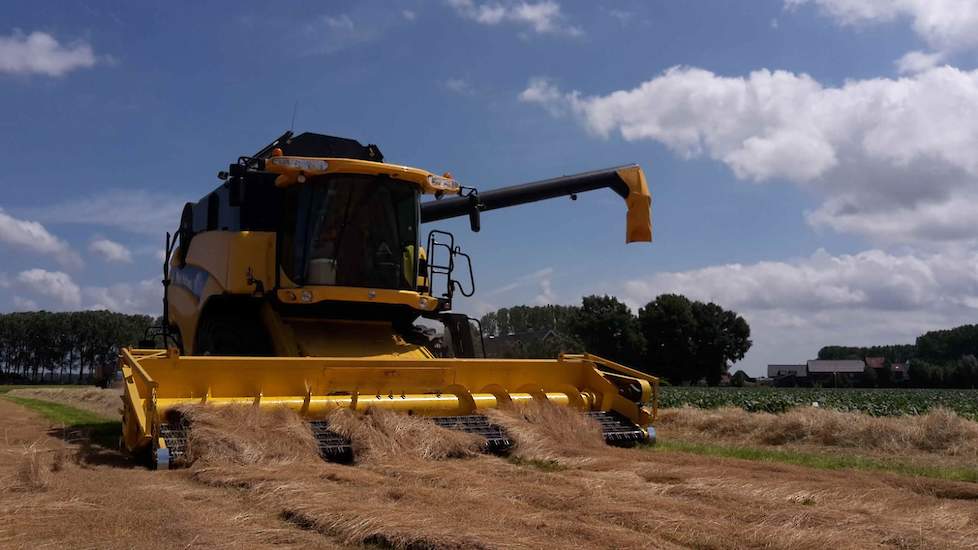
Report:
M 0 311 L 159 311 L 183 202 L 289 127 L 482 189 L 637 162 L 610 192 L 444 223 L 474 313 L 609 293 L 715 300 L 742 366 L 905 342 L 978 313 L 969 0 L 9 6 Z

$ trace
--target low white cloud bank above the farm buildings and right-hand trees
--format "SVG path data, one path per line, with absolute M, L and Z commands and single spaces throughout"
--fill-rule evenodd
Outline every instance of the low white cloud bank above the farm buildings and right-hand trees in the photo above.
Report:
M 978 317 L 978 252 L 934 254 L 819 250 L 790 261 L 725 264 L 658 273 L 618 289 L 637 309 L 663 293 L 714 301 L 742 314 L 754 347 L 743 365 L 815 357 L 824 345 L 912 343 L 920 334 Z

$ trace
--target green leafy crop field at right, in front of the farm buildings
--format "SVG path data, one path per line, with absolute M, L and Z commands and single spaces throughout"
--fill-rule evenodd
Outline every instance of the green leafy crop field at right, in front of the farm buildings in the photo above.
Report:
M 858 411 L 873 416 L 923 414 L 944 407 L 978 420 L 978 390 L 941 389 L 820 389 L 820 388 L 706 388 L 663 387 L 660 407 L 688 405 L 704 409 L 740 407 L 751 412 L 779 413 L 811 406 Z

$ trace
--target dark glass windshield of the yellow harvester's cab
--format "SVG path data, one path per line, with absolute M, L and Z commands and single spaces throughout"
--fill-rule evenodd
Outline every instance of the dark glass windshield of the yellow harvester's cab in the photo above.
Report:
M 282 267 L 300 285 L 414 290 L 418 191 L 386 176 L 334 174 L 286 192 Z

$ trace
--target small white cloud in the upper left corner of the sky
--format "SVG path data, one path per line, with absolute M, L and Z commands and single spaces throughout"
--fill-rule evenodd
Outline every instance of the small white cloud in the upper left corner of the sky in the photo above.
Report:
M 92 47 L 84 42 L 62 45 L 46 32 L 14 31 L 0 36 L 0 73 L 62 76 L 96 63 Z

